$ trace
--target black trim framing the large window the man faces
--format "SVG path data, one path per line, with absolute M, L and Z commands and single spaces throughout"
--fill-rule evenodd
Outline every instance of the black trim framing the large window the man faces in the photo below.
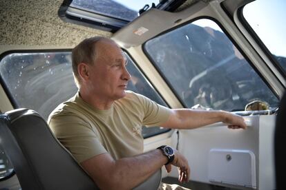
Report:
M 188 25 L 190 23 L 193 23 L 194 21 L 198 21 L 199 19 L 209 19 L 211 21 L 214 21 L 219 27 L 220 29 L 225 33 L 225 35 L 229 38 L 229 40 L 231 41 L 231 43 L 233 43 L 233 45 L 238 49 L 238 51 L 240 52 L 240 54 L 242 54 L 242 56 L 244 56 L 245 60 L 247 60 L 247 62 L 249 63 L 249 65 L 254 69 L 254 71 L 258 74 L 258 76 L 260 76 L 260 78 L 262 78 L 263 82 L 265 83 L 265 85 L 267 85 L 267 87 L 269 87 L 269 89 L 271 89 L 271 92 L 274 93 L 274 95 L 279 99 L 278 94 L 275 92 L 275 90 L 273 89 L 273 87 L 271 87 L 271 85 L 269 85 L 269 83 L 265 80 L 264 76 L 262 76 L 262 74 L 260 74 L 260 72 L 257 70 L 257 68 L 254 66 L 254 64 L 250 61 L 249 57 L 245 54 L 244 51 L 242 51 L 242 49 L 240 48 L 240 46 L 236 43 L 236 41 L 233 40 L 233 38 L 231 37 L 231 35 L 227 32 L 227 30 L 225 30 L 224 27 L 222 27 L 221 23 L 219 21 L 217 21 L 215 18 L 210 17 L 210 16 L 200 16 L 200 17 L 196 17 L 194 19 L 191 19 L 185 23 L 182 23 L 180 25 L 177 25 L 173 28 L 170 28 L 169 30 L 165 30 L 164 32 L 161 32 L 160 34 L 154 36 L 153 38 L 149 39 L 148 41 L 157 38 L 158 36 L 161 36 L 163 34 L 166 34 L 168 32 L 171 32 L 173 30 L 176 30 L 177 28 L 181 28 L 184 25 Z M 175 96 L 178 98 L 178 100 L 180 101 L 180 103 L 184 106 L 187 107 L 187 105 L 184 103 L 184 101 L 182 101 L 182 98 L 180 98 L 180 95 L 175 91 L 175 89 L 173 88 L 173 86 L 171 85 L 171 83 L 168 81 L 167 77 L 164 76 L 164 74 L 162 73 L 162 71 L 160 70 L 160 68 L 158 67 L 158 65 L 155 64 L 155 61 L 152 59 L 152 57 L 149 55 L 149 53 L 147 52 L 145 45 L 148 42 L 144 42 L 142 44 L 142 51 L 144 52 L 144 54 L 146 54 L 146 56 L 148 57 L 148 59 L 151 61 L 151 63 L 153 64 L 153 66 L 155 67 L 155 69 L 158 71 L 158 73 L 160 74 L 160 76 L 162 76 L 162 78 L 164 79 L 164 81 L 167 83 L 167 85 L 169 85 L 170 89 L 172 90 L 173 94 L 175 94 Z M 272 71 L 271 71 L 272 72 Z

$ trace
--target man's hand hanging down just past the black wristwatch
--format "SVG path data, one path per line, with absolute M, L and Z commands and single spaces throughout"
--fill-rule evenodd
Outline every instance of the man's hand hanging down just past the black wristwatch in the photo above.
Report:
M 172 165 L 178 167 L 179 172 L 179 181 L 180 182 L 188 182 L 190 178 L 191 169 L 189 167 L 188 160 L 184 158 L 180 152 L 175 150 L 175 158 L 173 162 L 171 162 L 169 165 L 166 165 L 166 171 L 169 173 L 171 172 Z

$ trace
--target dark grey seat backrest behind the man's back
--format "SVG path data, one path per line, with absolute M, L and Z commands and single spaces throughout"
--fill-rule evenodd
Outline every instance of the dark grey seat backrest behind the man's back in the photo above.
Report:
M 23 190 L 98 189 L 37 112 L 1 114 L 0 139 Z

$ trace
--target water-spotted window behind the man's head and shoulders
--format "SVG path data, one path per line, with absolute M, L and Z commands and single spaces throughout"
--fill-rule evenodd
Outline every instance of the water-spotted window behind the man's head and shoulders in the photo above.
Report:
M 127 54 L 126 57 L 132 76 L 128 89 L 166 105 Z M 17 107 L 34 109 L 45 119 L 57 105 L 77 92 L 70 52 L 8 54 L 0 62 L 0 76 Z M 166 130 L 143 127 L 142 135 L 147 138 Z

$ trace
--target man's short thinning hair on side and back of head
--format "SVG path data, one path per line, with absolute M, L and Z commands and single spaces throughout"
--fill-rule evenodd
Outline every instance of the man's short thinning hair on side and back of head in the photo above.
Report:
M 79 63 L 86 63 L 92 65 L 95 63 L 96 50 L 95 44 L 98 41 L 110 40 L 102 36 L 95 36 L 88 39 L 84 39 L 81 43 L 75 46 L 72 50 L 72 65 L 73 65 L 73 76 L 75 77 L 75 84 L 79 87 L 80 78 L 77 66 Z

